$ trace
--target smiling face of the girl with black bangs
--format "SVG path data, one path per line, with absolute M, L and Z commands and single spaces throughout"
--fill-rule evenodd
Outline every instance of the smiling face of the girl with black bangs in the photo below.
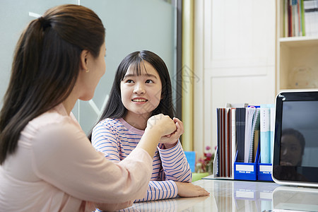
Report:
M 161 100 L 162 84 L 158 72 L 147 61 L 140 64 L 141 75 L 129 66 L 120 83 L 122 103 L 126 107 L 126 119 L 148 119 Z M 145 69 L 146 68 L 146 69 Z M 127 121 L 127 120 L 126 120 Z

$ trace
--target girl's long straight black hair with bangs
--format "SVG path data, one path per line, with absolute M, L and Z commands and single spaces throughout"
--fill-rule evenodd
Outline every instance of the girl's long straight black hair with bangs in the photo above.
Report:
M 107 118 L 121 118 L 124 117 L 127 110 L 122 104 L 120 83 L 124 79 L 126 72 L 130 65 L 134 66 L 134 70 L 137 75 L 141 74 L 141 66 L 143 66 L 143 61 L 147 61 L 153 68 L 158 72 L 160 76 L 160 81 L 162 84 L 161 100 L 157 108 L 153 110 L 152 116 L 156 114 L 163 113 L 169 115 L 170 118 L 175 117 L 175 110 L 172 105 L 172 86 L 169 76 L 169 71 L 163 59 L 161 59 L 157 54 L 143 50 L 141 52 L 133 52 L 126 56 L 122 62 L 119 64 L 117 71 L 115 73 L 114 82 L 112 84 L 112 89 L 110 90 L 110 98 L 108 98 L 107 105 L 98 122 Z M 92 131 L 88 135 L 88 139 L 91 140 Z

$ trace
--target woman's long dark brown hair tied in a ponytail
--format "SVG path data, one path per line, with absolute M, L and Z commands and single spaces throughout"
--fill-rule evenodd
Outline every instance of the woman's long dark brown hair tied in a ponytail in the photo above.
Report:
M 0 164 L 16 151 L 28 122 L 69 96 L 83 49 L 98 57 L 104 42 L 102 21 L 84 6 L 57 6 L 30 22 L 16 45 L 0 112 Z

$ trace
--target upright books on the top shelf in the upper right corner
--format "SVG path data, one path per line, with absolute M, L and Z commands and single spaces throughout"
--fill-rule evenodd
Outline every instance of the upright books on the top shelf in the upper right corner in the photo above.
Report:
M 284 37 L 318 35 L 318 0 L 283 0 Z

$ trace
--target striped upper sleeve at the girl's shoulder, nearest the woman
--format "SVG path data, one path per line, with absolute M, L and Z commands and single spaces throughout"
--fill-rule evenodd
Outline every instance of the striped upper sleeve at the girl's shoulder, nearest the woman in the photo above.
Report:
M 104 153 L 108 160 L 120 161 L 117 138 L 118 135 L 110 124 L 97 124 L 92 133 L 92 145 L 97 151 Z

